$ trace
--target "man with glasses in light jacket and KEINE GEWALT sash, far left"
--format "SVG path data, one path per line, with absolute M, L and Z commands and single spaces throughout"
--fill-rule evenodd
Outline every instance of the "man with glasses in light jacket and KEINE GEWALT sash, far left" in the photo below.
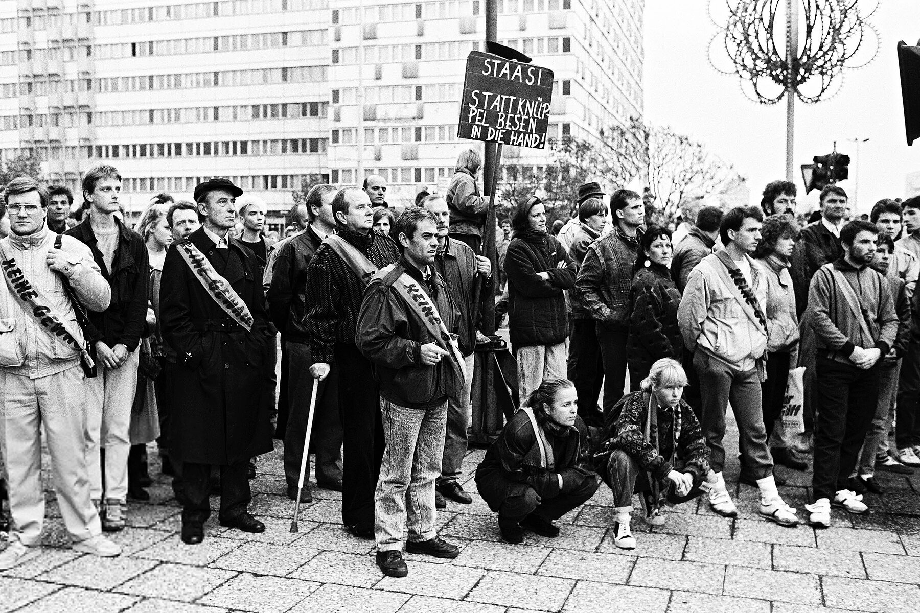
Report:
M 0 571 L 41 545 L 42 424 L 61 517 L 75 551 L 116 556 L 121 548 L 102 536 L 98 511 L 90 502 L 86 379 L 76 348 L 85 340 L 64 278 L 77 300 L 96 312 L 109 306 L 111 290 L 89 247 L 70 236 L 62 237 L 60 248 L 54 246 L 57 235 L 45 223 L 44 187 L 18 177 L 0 193 L 4 200 L 11 233 L 0 239 L 6 277 L 0 279 L 0 447 L 6 451 L 13 528 L 9 546 L 0 551 Z M 35 316 L 36 311 L 44 314 Z

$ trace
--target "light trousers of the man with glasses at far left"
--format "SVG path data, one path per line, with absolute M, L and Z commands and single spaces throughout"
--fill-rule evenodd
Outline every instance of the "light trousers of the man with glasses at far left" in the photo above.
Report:
M 84 381 L 79 365 L 39 379 L 0 369 L 0 447 L 6 457 L 12 534 L 26 546 L 40 544 L 45 517 L 42 424 L 64 526 L 75 540 L 102 532 L 98 513 L 90 502 L 86 472 Z

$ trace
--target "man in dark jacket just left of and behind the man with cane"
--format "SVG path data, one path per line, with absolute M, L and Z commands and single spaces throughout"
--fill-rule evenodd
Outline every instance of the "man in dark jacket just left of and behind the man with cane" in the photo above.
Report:
M 282 331 L 289 360 L 288 414 L 282 438 L 287 495 L 292 500 L 297 496 L 301 457 L 308 453 L 304 448 L 304 437 L 309 416 L 309 398 L 314 385 L 319 386 L 311 436 L 311 447 L 316 453 L 316 485 L 339 492 L 342 489 L 339 373 L 335 363 L 330 363 L 326 379 L 316 381 L 310 376 L 309 370 L 314 360 L 310 355 L 310 335 L 304 325 L 306 294 L 312 290 L 307 279 L 307 269 L 319 245 L 336 232 L 336 221 L 332 216 L 332 199 L 336 191 L 331 185 L 317 185 L 307 193 L 306 210 L 310 224 L 304 232 L 293 236 L 279 250 L 268 293 L 269 316 Z M 280 410 L 278 428 L 282 429 Z M 309 471 L 307 459 L 307 474 Z M 300 499 L 301 502 L 313 500 L 307 483 L 304 484 Z

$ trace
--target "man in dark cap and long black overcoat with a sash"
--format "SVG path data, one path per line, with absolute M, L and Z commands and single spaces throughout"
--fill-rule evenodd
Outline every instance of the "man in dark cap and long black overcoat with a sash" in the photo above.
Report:
M 176 350 L 170 440 L 182 462 L 182 540 L 204 538 L 212 466 L 221 473 L 221 526 L 262 532 L 249 515 L 249 458 L 271 450 L 268 406 L 261 403 L 268 312 L 259 260 L 230 236 L 243 190 L 224 178 L 195 187 L 205 218 L 173 243 L 163 265 L 163 336 Z

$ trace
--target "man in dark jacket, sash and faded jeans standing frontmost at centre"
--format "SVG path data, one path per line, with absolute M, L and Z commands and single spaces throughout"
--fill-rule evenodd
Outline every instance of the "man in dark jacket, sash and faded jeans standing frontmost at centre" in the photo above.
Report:
M 377 565 L 389 576 L 404 577 L 407 518 L 410 553 L 455 558 L 460 552 L 437 536 L 434 482 L 441 474 L 447 400 L 460 396 L 466 367 L 454 334 L 460 312 L 431 266 L 437 220 L 427 210 L 408 209 L 397 219 L 396 233 L 403 255 L 364 293 L 356 341 L 380 381 L 386 440 L 374 495 Z

